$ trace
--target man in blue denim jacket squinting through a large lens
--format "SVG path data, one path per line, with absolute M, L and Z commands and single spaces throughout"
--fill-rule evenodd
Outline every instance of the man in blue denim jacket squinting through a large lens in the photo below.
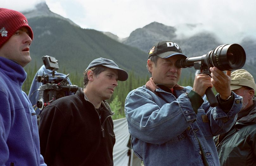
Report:
M 148 54 L 152 77 L 132 90 L 125 100 L 131 144 L 145 165 L 220 165 L 213 136 L 227 132 L 242 107 L 242 98 L 230 89 L 230 71 L 210 68 L 195 76 L 193 88 L 177 84 L 187 58 L 172 41 L 155 43 Z M 205 91 L 215 87 L 217 107 L 210 107 Z

